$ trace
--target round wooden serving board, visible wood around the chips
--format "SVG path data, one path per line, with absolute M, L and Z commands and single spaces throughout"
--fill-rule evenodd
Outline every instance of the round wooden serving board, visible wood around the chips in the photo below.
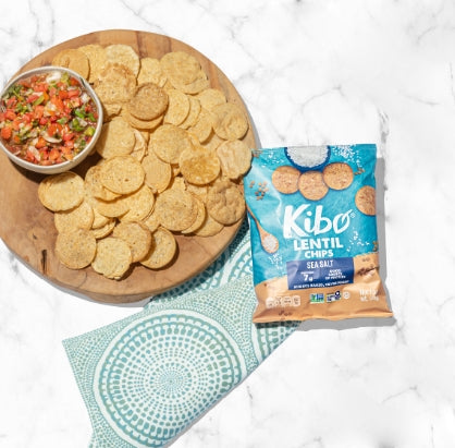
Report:
M 46 50 L 26 63 L 21 72 L 50 64 L 59 51 L 87 44 L 126 44 L 142 58 L 161 58 L 174 50 L 187 51 L 199 60 L 211 86 L 223 90 L 228 99 L 242 107 L 249 119 L 238 93 L 217 65 L 194 48 L 168 36 L 127 29 L 90 33 Z M 251 148 L 257 146 L 251 122 L 245 141 Z M 75 171 L 84 173 L 86 169 L 83 164 Z M 241 225 L 226 227 L 210 238 L 176 235 L 179 256 L 172 265 L 160 270 L 134 265 L 122 280 L 110 280 L 91 267 L 67 269 L 57 259 L 53 214 L 39 203 L 37 196 L 42 175 L 15 166 L 3 153 L 0 154 L 0 238 L 7 246 L 52 283 L 100 302 L 135 302 L 183 283 L 206 269 L 224 251 Z

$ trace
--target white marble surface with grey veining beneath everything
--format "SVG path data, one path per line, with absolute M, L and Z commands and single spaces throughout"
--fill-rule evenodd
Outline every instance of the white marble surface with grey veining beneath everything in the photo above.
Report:
M 175 448 L 454 446 L 455 2 L 9 4 L 0 21 L 2 83 L 69 38 L 142 29 L 212 59 L 243 96 L 263 146 L 379 145 L 383 275 L 396 322 L 303 325 Z M 65 293 L 2 242 L 0 271 L 0 446 L 85 447 L 90 423 L 61 341 L 140 303 Z

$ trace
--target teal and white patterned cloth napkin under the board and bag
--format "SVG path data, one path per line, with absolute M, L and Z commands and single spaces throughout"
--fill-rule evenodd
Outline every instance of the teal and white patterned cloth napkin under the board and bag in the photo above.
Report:
M 251 323 L 244 222 L 205 273 L 118 323 L 63 341 L 91 447 L 162 447 L 250 374 L 298 323 Z

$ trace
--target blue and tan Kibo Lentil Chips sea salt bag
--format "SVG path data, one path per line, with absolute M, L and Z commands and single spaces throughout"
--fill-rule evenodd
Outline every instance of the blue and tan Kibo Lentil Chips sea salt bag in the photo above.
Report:
M 244 178 L 254 322 L 391 317 L 379 274 L 376 145 L 253 152 Z

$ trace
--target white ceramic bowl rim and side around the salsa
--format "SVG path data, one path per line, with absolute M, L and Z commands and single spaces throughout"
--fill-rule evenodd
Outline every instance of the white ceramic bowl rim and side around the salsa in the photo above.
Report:
M 49 165 L 49 166 L 42 166 L 42 165 L 37 165 L 37 164 L 33 164 L 30 161 L 27 161 L 16 155 L 14 155 L 13 153 L 11 153 L 10 149 L 8 149 L 8 147 L 4 145 L 3 138 L 0 137 L 0 147 L 3 150 L 3 153 L 16 165 L 19 165 L 22 168 L 25 168 L 27 170 L 34 171 L 34 172 L 39 172 L 41 174 L 56 174 L 59 172 L 63 172 L 63 171 L 67 171 L 73 169 L 74 167 L 76 167 L 78 164 L 81 164 L 90 153 L 91 149 L 94 148 L 100 133 L 101 133 L 101 128 L 102 128 L 102 106 L 101 102 L 97 96 L 97 94 L 95 93 L 95 90 L 91 88 L 90 84 L 88 84 L 88 82 L 83 78 L 79 74 L 77 74 L 76 72 L 70 70 L 70 69 L 64 69 L 61 66 L 54 66 L 54 65 L 45 65 L 45 66 L 40 66 L 38 69 L 32 69 L 28 70 L 24 73 L 21 73 L 20 75 L 15 76 L 14 78 L 12 78 L 3 88 L 0 98 L 3 97 L 3 95 L 8 92 L 8 89 L 15 83 L 17 83 L 21 80 L 25 80 L 28 78 L 30 76 L 33 76 L 34 74 L 41 74 L 41 73 L 47 73 L 47 72 L 66 72 L 69 73 L 71 76 L 74 76 L 83 86 L 83 88 L 87 92 L 87 94 L 93 98 L 93 100 L 95 101 L 95 105 L 97 107 L 97 112 L 98 112 L 98 122 L 95 129 L 95 134 L 91 137 L 91 141 L 88 143 L 88 145 L 85 146 L 85 148 L 77 154 L 72 160 L 66 160 L 60 164 L 56 164 L 56 165 Z

